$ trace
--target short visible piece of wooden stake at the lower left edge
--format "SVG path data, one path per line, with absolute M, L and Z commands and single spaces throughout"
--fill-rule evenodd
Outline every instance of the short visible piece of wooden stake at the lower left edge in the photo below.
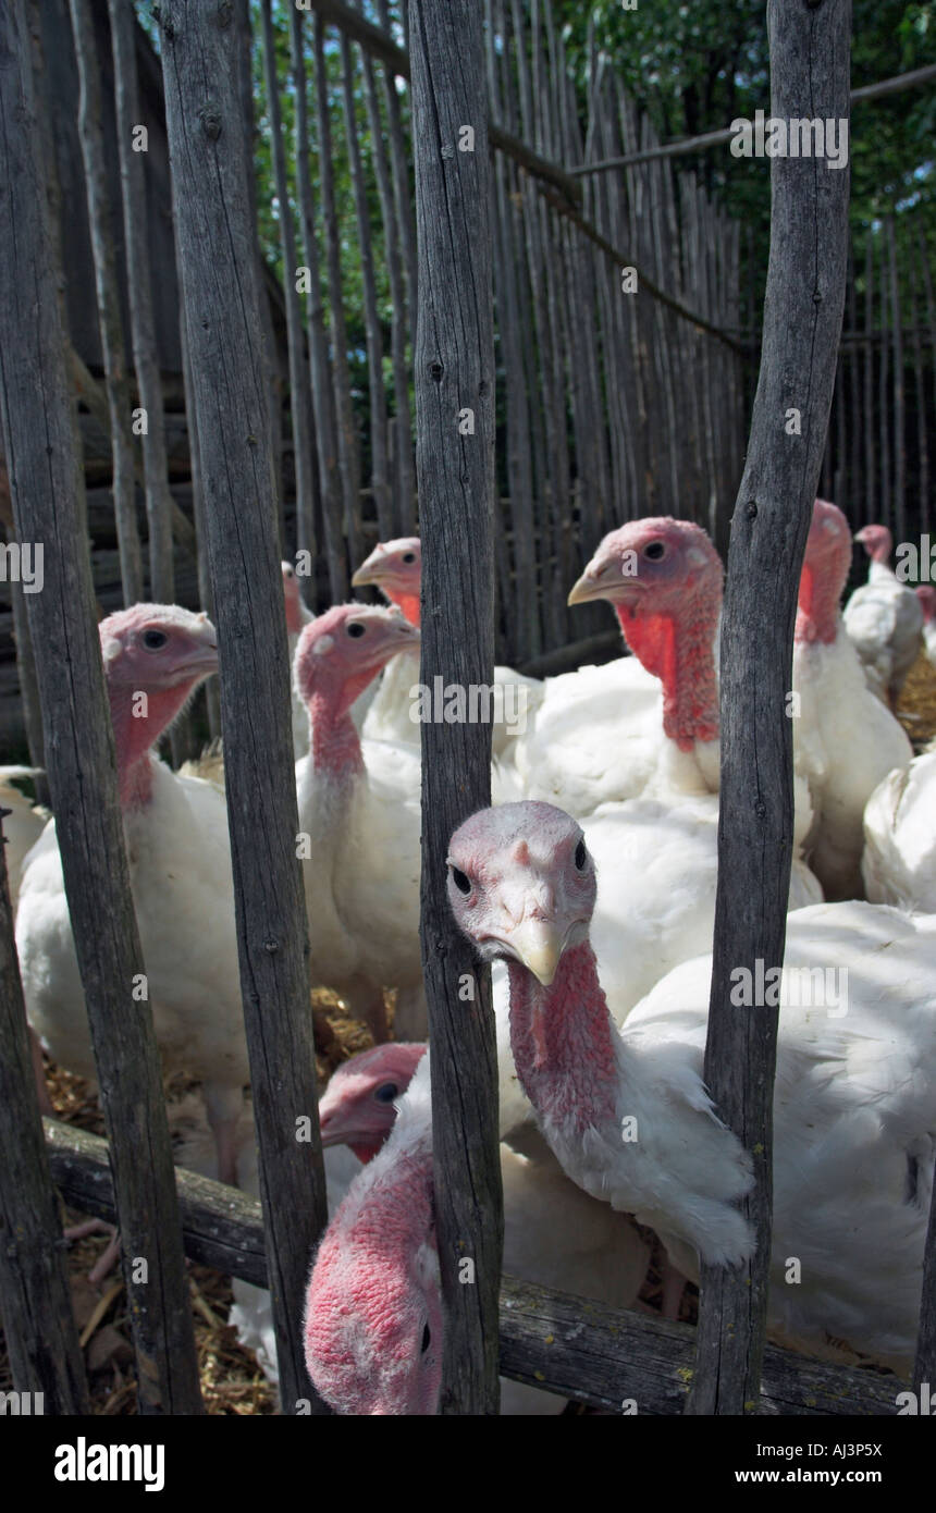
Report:
M 44 1393 L 38 1412 L 88 1413 L 59 1204 L 36 1104 L 5 855 L 0 855 L 0 1309 L 15 1390 Z

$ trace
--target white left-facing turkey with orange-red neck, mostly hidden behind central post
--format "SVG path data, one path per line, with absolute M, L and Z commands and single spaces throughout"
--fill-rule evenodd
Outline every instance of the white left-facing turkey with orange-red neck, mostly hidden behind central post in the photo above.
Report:
M 355 589 L 366 584 L 380 589 L 417 626 L 420 579 L 419 537 L 404 536 L 395 542 L 380 542 L 357 569 L 351 584 Z M 392 663 L 380 681 L 363 734 L 373 740 L 411 741 L 419 746 L 419 722 L 410 717 L 411 688 L 417 682 L 419 661 L 414 654 Z M 493 687 L 491 752 L 497 758 L 510 752 L 517 732 L 526 728 L 543 684 L 535 678 L 525 678 L 513 667 L 494 667 Z

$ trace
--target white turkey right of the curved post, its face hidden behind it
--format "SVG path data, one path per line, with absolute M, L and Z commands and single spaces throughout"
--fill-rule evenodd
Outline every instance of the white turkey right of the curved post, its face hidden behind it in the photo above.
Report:
M 874 697 L 857 652 L 842 629 L 839 598 L 851 564 L 848 522 L 817 499 L 803 558 L 794 632 L 792 705 L 795 769 L 814 809 L 806 852 L 829 899 L 863 894 L 862 820 L 874 788 L 906 767 L 910 743 Z

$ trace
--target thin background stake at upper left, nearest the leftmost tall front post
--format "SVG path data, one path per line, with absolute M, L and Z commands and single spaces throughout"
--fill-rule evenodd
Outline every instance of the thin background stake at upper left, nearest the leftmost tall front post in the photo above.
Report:
M 85 162 L 88 225 L 94 253 L 94 278 L 101 328 L 101 351 L 110 410 L 110 452 L 113 458 L 113 516 L 121 557 L 124 602 L 144 596 L 144 570 L 136 528 L 136 489 L 133 483 L 133 440 L 130 431 L 130 386 L 124 362 L 124 330 L 116 281 L 116 256 L 110 230 L 107 165 L 101 130 L 101 85 L 91 0 L 70 0 L 74 51 L 79 65 L 79 136 Z

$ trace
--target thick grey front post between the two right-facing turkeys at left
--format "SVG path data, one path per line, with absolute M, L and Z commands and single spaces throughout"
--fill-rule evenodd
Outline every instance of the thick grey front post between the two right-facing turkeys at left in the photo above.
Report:
M 305 1374 L 308 1262 L 325 1223 L 308 941 L 296 858 L 289 661 L 260 289 L 228 6 L 162 6 L 166 129 L 221 648 L 221 719 L 243 1018 L 287 1413 L 325 1412 Z

